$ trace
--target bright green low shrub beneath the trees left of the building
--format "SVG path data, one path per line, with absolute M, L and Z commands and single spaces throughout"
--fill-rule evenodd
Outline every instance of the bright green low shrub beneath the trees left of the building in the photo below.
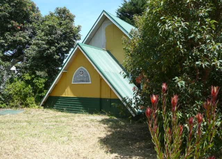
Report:
M 1 107 L 37 107 L 45 94 L 45 79 L 24 74 L 8 82 Z

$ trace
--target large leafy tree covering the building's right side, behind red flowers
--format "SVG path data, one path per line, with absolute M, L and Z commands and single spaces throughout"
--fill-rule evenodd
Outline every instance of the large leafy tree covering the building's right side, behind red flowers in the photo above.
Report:
M 186 120 L 203 109 L 210 86 L 222 83 L 222 1 L 147 3 L 138 29 L 125 40 L 126 69 L 141 85 L 138 104 L 150 105 L 150 94 L 160 94 L 156 88 L 166 82 L 168 94 L 179 95 L 178 114 Z

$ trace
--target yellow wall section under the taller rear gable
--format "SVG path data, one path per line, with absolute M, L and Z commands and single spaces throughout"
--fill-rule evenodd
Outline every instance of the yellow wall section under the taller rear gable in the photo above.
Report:
M 125 36 L 124 33 L 114 24 L 106 27 L 106 49 L 113 54 L 120 64 L 123 64 L 123 60 L 125 59 L 122 44 L 123 36 Z

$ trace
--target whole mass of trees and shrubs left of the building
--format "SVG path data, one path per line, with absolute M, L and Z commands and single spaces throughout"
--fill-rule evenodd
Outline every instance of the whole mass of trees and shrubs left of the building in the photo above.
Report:
M 65 7 L 42 16 L 31 0 L 0 1 L 0 105 L 18 98 L 22 101 L 15 106 L 27 106 L 29 97 L 34 103 L 40 101 L 80 39 L 74 18 Z M 16 72 L 10 70 L 12 66 Z

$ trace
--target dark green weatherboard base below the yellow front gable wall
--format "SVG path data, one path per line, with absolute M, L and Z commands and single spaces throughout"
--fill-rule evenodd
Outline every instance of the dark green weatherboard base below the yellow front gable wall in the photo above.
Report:
M 51 96 L 47 99 L 45 107 L 70 113 L 103 112 L 115 116 L 129 116 L 128 111 L 119 99 Z

